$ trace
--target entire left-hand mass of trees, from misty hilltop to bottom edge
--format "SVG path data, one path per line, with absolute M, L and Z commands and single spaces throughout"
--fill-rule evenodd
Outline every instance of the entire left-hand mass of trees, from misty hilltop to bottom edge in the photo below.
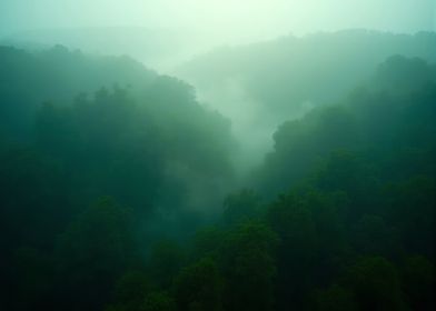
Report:
M 230 123 L 126 58 L 0 52 L 2 301 L 96 310 L 132 253 L 217 212 L 234 182 Z

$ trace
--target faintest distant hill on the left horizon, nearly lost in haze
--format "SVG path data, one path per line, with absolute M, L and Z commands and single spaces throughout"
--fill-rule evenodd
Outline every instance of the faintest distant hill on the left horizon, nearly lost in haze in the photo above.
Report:
M 105 56 L 129 54 L 153 69 L 171 68 L 214 39 L 204 31 L 147 27 L 79 27 L 32 29 L 0 36 L 0 44 L 29 50 L 62 44 Z

